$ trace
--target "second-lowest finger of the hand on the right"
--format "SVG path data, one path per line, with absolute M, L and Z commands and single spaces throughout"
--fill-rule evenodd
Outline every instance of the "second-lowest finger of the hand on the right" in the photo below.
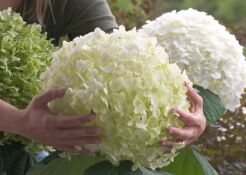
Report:
M 176 128 L 176 127 L 169 127 L 168 134 L 174 136 L 178 140 L 191 140 L 194 138 L 199 137 L 199 133 L 197 132 L 197 128 L 189 127 L 189 128 Z

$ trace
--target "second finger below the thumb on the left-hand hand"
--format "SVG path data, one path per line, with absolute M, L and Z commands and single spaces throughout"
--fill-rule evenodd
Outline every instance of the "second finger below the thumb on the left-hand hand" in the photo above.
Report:
M 102 129 L 95 126 L 88 126 L 75 129 L 63 129 L 60 133 L 60 138 L 64 140 L 78 139 L 87 136 L 97 136 L 101 134 Z

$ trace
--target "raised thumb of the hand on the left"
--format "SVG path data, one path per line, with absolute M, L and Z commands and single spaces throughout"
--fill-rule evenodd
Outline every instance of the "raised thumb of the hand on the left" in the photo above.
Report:
M 65 88 L 60 89 L 50 89 L 42 94 L 34 97 L 33 101 L 35 105 L 38 106 L 46 106 L 48 102 L 55 100 L 57 98 L 61 98 L 66 93 Z

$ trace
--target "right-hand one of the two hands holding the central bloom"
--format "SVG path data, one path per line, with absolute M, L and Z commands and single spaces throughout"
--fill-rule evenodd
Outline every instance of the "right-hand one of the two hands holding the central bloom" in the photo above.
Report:
M 187 96 L 190 101 L 190 113 L 178 108 L 173 108 L 170 111 L 185 123 L 185 127 L 169 127 L 167 130 L 168 134 L 174 136 L 177 141 L 163 140 L 161 141 L 163 146 L 173 146 L 177 143 L 188 145 L 197 140 L 206 128 L 206 118 L 203 114 L 203 99 L 188 83 L 185 82 L 185 86 L 188 88 Z

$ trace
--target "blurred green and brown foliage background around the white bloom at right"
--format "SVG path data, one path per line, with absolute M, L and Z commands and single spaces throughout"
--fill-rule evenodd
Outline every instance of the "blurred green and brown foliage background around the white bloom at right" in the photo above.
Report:
M 246 54 L 246 0 L 108 0 L 118 24 L 141 27 L 164 12 L 195 8 L 213 15 L 235 34 Z M 246 81 L 246 77 L 245 77 Z M 246 175 L 246 95 L 242 106 L 207 127 L 195 143 L 220 175 Z

